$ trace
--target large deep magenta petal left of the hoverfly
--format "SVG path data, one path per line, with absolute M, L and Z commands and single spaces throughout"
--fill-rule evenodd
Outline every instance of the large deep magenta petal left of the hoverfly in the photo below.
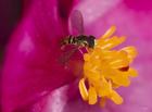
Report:
M 36 0 L 12 36 L 3 71 L 3 112 L 21 112 L 74 79 L 73 70 L 59 63 L 59 40 L 67 35 L 67 25 L 58 11 L 56 0 Z

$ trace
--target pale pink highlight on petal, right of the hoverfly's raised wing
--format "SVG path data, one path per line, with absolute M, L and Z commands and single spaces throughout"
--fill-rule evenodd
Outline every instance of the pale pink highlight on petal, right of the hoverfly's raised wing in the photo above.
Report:
M 83 13 L 85 24 L 92 23 L 104 15 L 122 0 L 83 0 L 75 9 Z

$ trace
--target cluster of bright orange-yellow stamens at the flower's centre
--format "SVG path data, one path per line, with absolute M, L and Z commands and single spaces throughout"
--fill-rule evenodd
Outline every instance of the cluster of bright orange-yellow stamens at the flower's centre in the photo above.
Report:
M 94 48 L 88 49 L 84 54 L 84 74 L 79 80 L 79 91 L 83 100 L 89 104 L 99 103 L 104 107 L 106 100 L 122 104 L 124 100 L 117 88 L 128 87 L 130 77 L 138 76 L 137 71 L 130 67 L 137 50 L 132 46 L 115 50 L 114 48 L 126 39 L 113 36 L 115 29 L 115 26 L 112 26 L 96 39 Z

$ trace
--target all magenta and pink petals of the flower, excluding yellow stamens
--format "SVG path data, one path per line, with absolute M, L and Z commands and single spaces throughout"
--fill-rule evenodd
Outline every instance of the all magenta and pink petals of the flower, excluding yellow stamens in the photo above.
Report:
M 151 1 L 69 1 L 34 0 L 25 10 L 7 51 L 2 80 L 3 111 L 151 112 Z M 134 66 L 138 69 L 139 77 L 132 79 L 128 88 L 119 89 L 125 99 L 122 105 L 111 102 L 104 109 L 88 105 L 80 99 L 77 85 L 67 85 L 75 79 L 75 71 L 65 70 L 56 63 L 61 54 L 58 40 L 68 35 L 67 17 L 72 8 L 81 11 L 86 35 L 99 37 L 114 24 L 117 35 L 128 37 L 124 46 L 138 48 L 139 57 Z M 77 67 L 75 62 L 72 65 Z

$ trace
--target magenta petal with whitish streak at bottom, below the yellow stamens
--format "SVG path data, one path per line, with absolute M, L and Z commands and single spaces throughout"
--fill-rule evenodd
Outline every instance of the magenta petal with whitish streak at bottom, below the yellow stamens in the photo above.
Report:
M 78 95 L 78 91 L 76 92 Z M 102 112 L 98 105 L 89 105 L 80 96 L 68 100 L 68 86 L 54 90 L 33 107 L 33 112 Z

